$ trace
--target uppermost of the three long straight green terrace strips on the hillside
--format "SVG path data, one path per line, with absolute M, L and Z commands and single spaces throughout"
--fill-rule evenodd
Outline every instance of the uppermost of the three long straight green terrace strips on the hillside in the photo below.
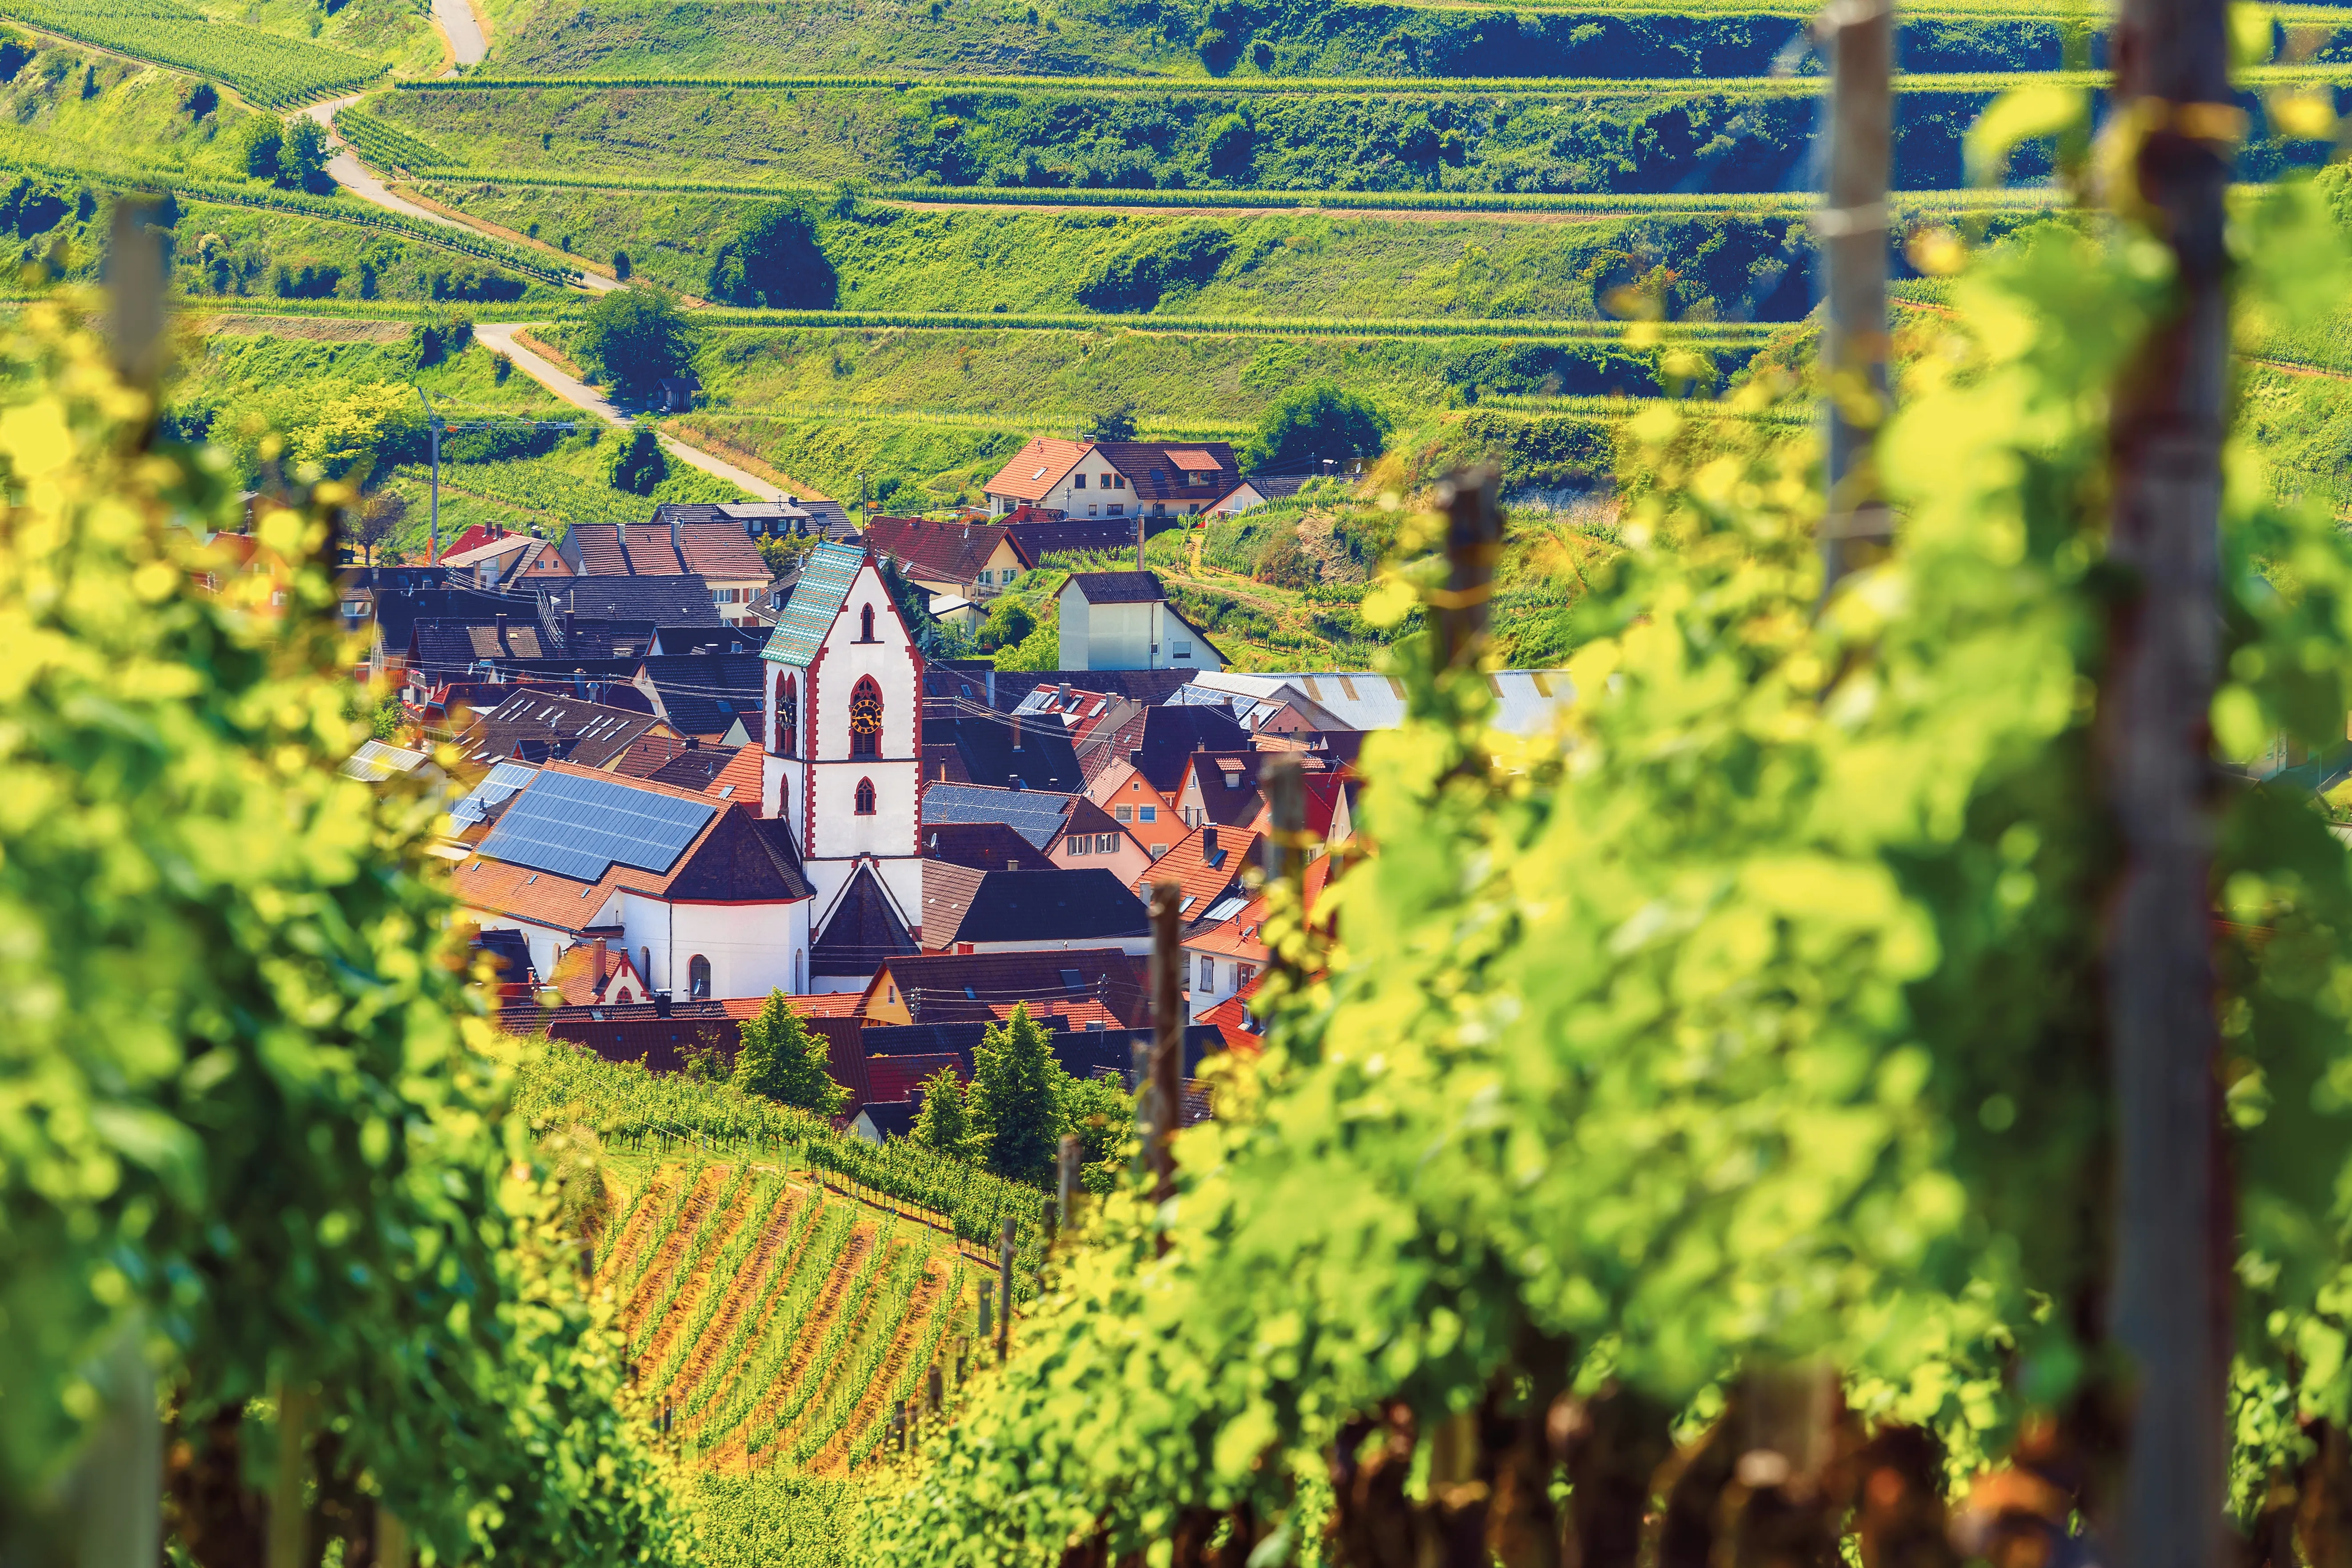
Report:
M 2110 71 L 1917 71 L 1896 73 L 1896 92 L 1994 94 L 2020 85 L 2107 87 Z M 2284 82 L 2345 82 L 2352 63 L 2246 66 L 2241 89 Z M 1820 75 L 1331 75 L 1200 80 L 1167 75 L 461 75 L 395 82 L 395 92 L 1021 92 L 1061 96 L 1157 99 L 1451 99 L 1461 94 L 1543 96 L 1731 96 L 1811 99 Z

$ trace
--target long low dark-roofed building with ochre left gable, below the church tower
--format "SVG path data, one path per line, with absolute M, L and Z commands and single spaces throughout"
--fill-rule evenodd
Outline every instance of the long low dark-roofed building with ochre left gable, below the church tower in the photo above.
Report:
M 868 1025 L 990 1023 L 1061 1013 L 1073 1025 L 1141 1030 L 1150 1025 L 1143 966 L 1120 947 L 1070 952 L 936 952 L 889 959 L 866 985 L 858 1018 Z

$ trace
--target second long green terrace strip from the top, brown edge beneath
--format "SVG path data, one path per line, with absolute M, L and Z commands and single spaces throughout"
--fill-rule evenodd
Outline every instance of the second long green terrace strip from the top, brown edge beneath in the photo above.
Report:
M 437 186 L 529 186 L 546 190 L 616 190 L 628 195 L 748 195 L 823 197 L 833 186 L 790 186 L 703 179 L 628 179 L 604 174 L 534 174 L 527 169 L 473 169 L 442 165 L 428 172 Z M 858 195 L 906 207 L 1174 207 L 1174 209 L 1334 209 L 1334 212 L 1562 212 L 1592 216 L 1804 216 L 1820 207 L 1809 190 L 1642 190 L 1618 195 L 1522 193 L 1522 190 L 1112 190 L 1103 186 L 863 186 Z M 2037 212 L 2060 207 L 2058 190 L 1896 190 L 1889 209 L 1924 212 Z

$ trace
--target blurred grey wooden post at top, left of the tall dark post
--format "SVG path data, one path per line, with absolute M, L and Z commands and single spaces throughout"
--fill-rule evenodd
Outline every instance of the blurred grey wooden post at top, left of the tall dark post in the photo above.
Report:
M 1828 263 L 1820 334 L 1830 421 L 1830 505 L 1820 520 L 1823 592 L 1886 552 L 1893 522 L 1879 489 L 1886 418 L 1886 179 L 1893 160 L 1891 0 L 1830 0 L 1830 181 L 1813 233 Z

